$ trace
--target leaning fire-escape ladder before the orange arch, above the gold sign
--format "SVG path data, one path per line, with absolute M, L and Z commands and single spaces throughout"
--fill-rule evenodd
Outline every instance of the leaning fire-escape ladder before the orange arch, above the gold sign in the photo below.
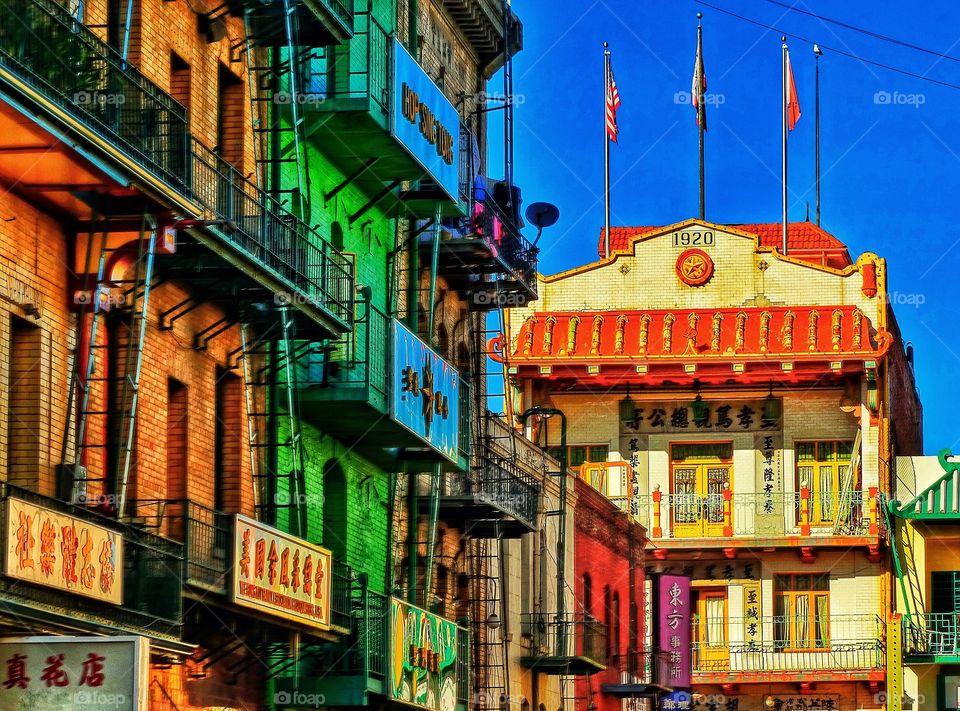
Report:
M 147 316 L 150 304 L 150 288 L 153 281 L 154 259 L 156 256 L 156 221 L 151 215 L 143 215 L 140 235 L 137 240 L 137 256 L 133 263 L 133 273 L 127 279 L 107 279 L 106 268 L 109 254 L 117 252 L 116 248 L 103 247 L 100 250 L 100 259 L 97 266 L 97 281 L 92 293 L 93 310 L 91 312 L 90 336 L 87 346 L 86 372 L 80 382 L 80 410 L 77 426 L 77 466 L 73 468 L 72 498 L 74 501 L 85 499 L 87 486 L 91 482 L 98 482 L 104 494 L 115 494 L 115 509 L 122 516 L 127 495 L 127 485 L 130 470 L 136 451 L 137 408 L 140 396 L 140 375 L 143 369 L 143 345 L 147 333 Z M 123 249 L 122 247 L 120 249 Z M 103 308 L 104 295 L 109 295 L 110 289 L 123 289 L 122 303 L 127 309 L 129 318 L 124 321 L 117 319 L 115 341 L 122 341 L 123 353 L 117 353 L 115 347 L 121 343 L 113 343 L 110 339 L 98 343 L 101 322 L 104 321 L 107 310 Z M 118 299 L 118 301 L 121 301 Z M 111 354 L 116 360 L 111 365 L 107 375 L 97 375 L 98 355 L 103 354 L 108 359 Z M 103 363 L 106 366 L 106 362 Z M 110 392 L 100 405 L 103 409 L 91 409 L 91 387 L 94 383 L 106 383 Z M 111 402 L 112 401 L 112 402 Z M 108 418 L 108 436 L 101 441 L 88 441 L 87 427 L 90 417 Z M 115 461 L 104 462 L 103 476 L 91 479 L 86 469 L 79 466 L 86 461 L 89 450 L 101 449 L 108 453 L 111 445 L 115 445 Z M 112 470 L 112 472 L 111 472 Z

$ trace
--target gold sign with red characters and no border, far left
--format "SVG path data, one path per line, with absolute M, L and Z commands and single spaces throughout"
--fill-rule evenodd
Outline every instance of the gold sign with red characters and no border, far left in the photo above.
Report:
M 119 605 L 123 536 L 76 516 L 7 499 L 4 574 Z

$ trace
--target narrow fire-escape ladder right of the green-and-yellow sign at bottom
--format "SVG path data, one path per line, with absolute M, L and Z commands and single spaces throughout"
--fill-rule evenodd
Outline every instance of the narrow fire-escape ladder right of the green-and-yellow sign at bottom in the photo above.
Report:
M 502 539 L 476 538 L 470 545 L 471 602 L 474 608 L 473 659 L 474 698 L 478 711 L 509 711 L 509 649 L 503 625 L 504 578 Z M 489 622 L 499 619 L 494 628 Z

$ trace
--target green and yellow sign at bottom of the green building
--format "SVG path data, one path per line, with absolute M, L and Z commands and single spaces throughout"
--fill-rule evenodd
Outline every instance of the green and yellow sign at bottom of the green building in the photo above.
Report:
M 457 625 L 396 598 L 390 607 L 391 698 L 430 711 L 454 711 Z

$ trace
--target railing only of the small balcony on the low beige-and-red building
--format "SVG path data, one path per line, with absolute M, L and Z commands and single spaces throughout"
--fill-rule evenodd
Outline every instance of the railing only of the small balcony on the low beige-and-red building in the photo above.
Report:
M 520 615 L 520 628 L 533 640 L 530 657 L 582 657 L 604 666 L 607 663 L 607 626 L 585 615 L 531 612 Z

